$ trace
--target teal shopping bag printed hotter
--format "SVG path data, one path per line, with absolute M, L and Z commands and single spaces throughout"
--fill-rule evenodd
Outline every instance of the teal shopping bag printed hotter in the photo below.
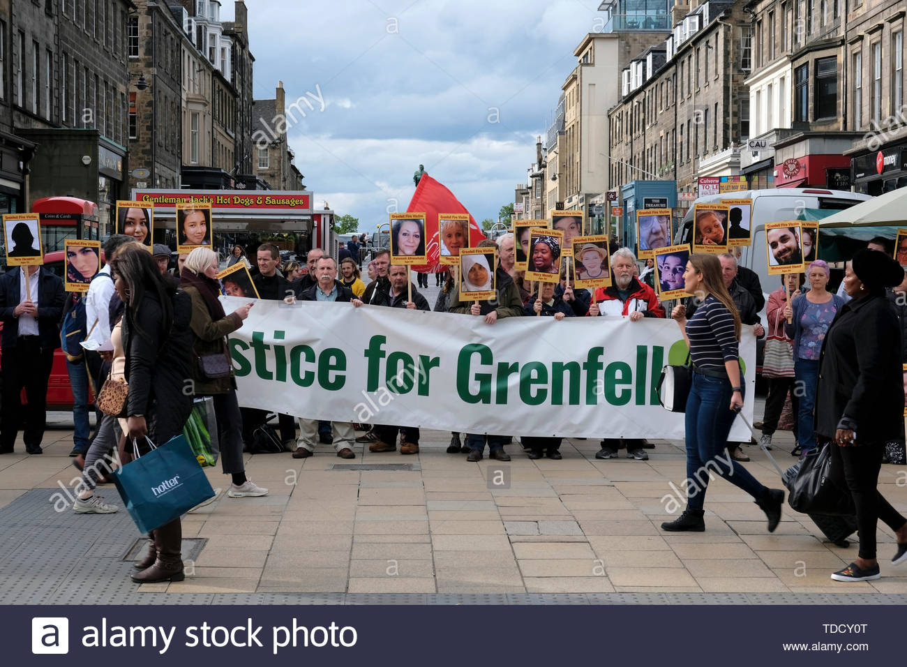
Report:
M 145 438 L 148 440 L 148 438 Z M 141 533 L 148 533 L 185 514 L 214 495 L 186 436 L 176 436 L 165 445 L 122 466 L 113 475 L 126 511 Z

